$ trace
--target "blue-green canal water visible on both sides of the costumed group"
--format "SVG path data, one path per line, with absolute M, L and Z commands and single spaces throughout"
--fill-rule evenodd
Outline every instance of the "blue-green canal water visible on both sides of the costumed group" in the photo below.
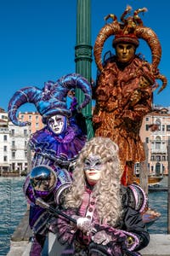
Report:
M 7 255 L 10 237 L 26 212 L 22 186 L 26 177 L 0 177 L 0 256 Z M 161 186 L 167 186 L 164 177 Z M 167 234 L 167 191 L 149 193 L 150 208 L 161 217 L 149 227 L 150 234 Z

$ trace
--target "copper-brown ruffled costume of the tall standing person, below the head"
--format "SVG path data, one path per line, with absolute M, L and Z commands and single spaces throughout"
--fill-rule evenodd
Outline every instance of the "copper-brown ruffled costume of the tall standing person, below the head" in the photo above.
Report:
M 110 137 L 117 143 L 124 165 L 144 161 L 139 130 L 144 115 L 151 110 L 152 86 L 144 88 L 139 83 L 144 72 L 149 74 L 142 64 L 144 61 L 136 56 L 122 70 L 115 61 L 108 61 L 95 92 L 95 136 Z

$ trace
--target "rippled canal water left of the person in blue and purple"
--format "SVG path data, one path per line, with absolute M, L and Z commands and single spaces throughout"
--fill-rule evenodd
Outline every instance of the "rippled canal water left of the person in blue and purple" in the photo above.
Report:
M 0 256 L 7 255 L 10 237 L 26 212 L 22 185 L 26 177 L 0 177 Z

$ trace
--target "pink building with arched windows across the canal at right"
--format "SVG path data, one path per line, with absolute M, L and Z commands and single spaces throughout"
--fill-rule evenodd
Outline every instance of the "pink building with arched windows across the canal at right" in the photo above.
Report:
M 153 106 L 142 123 L 140 137 L 147 145 L 150 175 L 167 175 L 167 144 L 170 140 L 170 107 Z M 139 165 L 136 165 L 138 172 Z

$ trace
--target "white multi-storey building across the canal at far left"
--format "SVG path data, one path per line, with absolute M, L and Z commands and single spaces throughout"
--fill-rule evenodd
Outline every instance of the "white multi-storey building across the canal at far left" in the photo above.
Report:
M 29 126 L 16 126 L 8 121 L 8 113 L 0 108 L 0 174 L 27 171 Z

